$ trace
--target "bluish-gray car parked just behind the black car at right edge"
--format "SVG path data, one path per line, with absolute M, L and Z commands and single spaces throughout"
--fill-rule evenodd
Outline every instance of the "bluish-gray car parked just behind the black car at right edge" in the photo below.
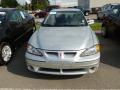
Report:
M 97 11 L 97 19 L 102 20 L 105 16 L 107 16 L 110 13 L 111 9 L 113 9 L 116 5 L 118 4 L 114 3 L 102 6 L 100 10 Z

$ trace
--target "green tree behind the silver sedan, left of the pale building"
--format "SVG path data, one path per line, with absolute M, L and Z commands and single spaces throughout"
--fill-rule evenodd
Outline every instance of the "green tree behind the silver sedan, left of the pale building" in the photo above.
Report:
M 32 0 L 32 9 L 45 9 L 49 5 L 48 0 Z

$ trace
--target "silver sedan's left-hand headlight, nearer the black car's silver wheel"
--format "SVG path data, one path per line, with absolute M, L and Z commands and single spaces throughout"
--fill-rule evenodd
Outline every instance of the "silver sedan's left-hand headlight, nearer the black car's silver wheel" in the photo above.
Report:
M 30 44 L 27 45 L 27 52 L 30 54 L 33 54 L 33 55 L 43 56 L 43 54 L 40 50 L 38 50 L 37 48 L 33 47 Z

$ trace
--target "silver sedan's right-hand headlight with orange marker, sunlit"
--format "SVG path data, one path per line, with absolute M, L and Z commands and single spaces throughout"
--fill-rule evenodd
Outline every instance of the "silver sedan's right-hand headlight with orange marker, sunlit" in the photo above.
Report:
M 91 56 L 97 54 L 98 52 L 100 52 L 100 44 L 96 44 L 95 46 L 86 49 L 80 56 L 81 57 Z

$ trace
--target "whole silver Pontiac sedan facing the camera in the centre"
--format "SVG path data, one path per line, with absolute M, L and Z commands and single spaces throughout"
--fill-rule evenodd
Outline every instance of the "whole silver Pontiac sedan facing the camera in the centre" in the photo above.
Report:
M 37 73 L 94 73 L 100 62 L 100 44 L 80 10 L 55 9 L 30 38 L 25 56 L 28 70 Z

